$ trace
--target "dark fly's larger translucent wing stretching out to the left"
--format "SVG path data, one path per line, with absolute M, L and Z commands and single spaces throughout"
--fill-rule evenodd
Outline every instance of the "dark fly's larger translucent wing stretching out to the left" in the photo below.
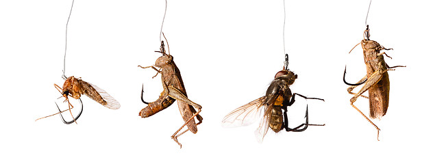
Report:
M 255 122 L 260 116 L 264 96 L 234 109 L 223 118 L 223 127 L 247 126 Z

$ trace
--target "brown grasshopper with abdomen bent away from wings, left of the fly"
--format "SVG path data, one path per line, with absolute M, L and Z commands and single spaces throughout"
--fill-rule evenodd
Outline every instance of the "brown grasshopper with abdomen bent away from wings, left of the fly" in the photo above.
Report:
M 156 59 L 155 65 L 153 66 L 138 66 L 140 68 L 153 68 L 156 70 L 156 75 L 161 74 L 162 87 L 164 87 L 164 91 L 162 91 L 158 100 L 154 102 L 145 102 L 143 100 L 143 90 L 142 90 L 142 101 L 147 104 L 147 107 L 142 109 L 139 115 L 142 118 L 147 118 L 163 109 L 166 109 L 170 105 L 177 100 L 177 106 L 179 107 L 182 118 L 184 118 L 185 123 L 171 136 L 177 144 L 179 144 L 180 148 L 182 148 L 182 144 L 177 141 L 177 137 L 184 134 L 186 131 L 191 131 L 192 133 L 197 133 L 197 125 L 201 124 L 203 118 L 199 115 L 201 111 L 201 106 L 197 103 L 191 101 L 186 96 L 186 90 L 184 86 L 184 82 L 182 81 L 182 77 L 180 75 L 179 68 L 177 68 L 175 62 L 173 61 L 173 56 L 170 54 L 166 54 L 164 49 L 164 41 L 161 41 L 160 51 L 156 51 L 158 53 L 162 53 L 162 56 Z M 159 70 L 156 67 L 160 68 Z M 153 77 L 156 77 L 153 76 Z M 153 78 L 152 77 L 152 78 Z M 193 108 L 195 107 L 197 111 Z M 197 124 L 195 123 L 194 117 L 197 117 L 199 121 Z M 184 126 L 187 126 L 188 129 L 179 133 Z

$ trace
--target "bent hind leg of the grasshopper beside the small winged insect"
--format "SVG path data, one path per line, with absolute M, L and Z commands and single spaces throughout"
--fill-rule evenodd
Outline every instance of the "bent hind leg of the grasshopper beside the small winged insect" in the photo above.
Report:
M 164 83 L 163 83 L 163 85 L 164 85 Z M 184 126 L 186 126 L 186 124 L 188 124 L 195 117 L 197 117 L 197 119 L 199 120 L 199 124 L 201 124 L 201 120 L 203 120 L 203 118 L 201 118 L 201 116 L 197 116 L 201 112 L 201 106 L 198 105 L 197 103 L 189 100 L 184 94 L 182 94 L 182 92 L 180 92 L 180 90 L 177 90 L 175 87 L 164 85 L 164 90 L 168 90 L 169 96 L 171 98 L 174 98 L 178 101 L 184 102 L 188 105 L 192 105 L 193 107 L 195 107 L 197 109 L 197 112 L 195 112 L 193 114 L 193 116 L 191 116 L 188 120 L 186 120 L 185 123 L 182 126 L 180 126 L 180 128 L 173 135 L 171 135 L 171 139 L 173 139 L 177 144 L 179 144 L 180 148 L 182 148 L 182 144 L 179 143 L 179 141 L 177 141 L 177 137 L 179 137 L 180 135 L 182 135 L 183 133 L 185 133 L 188 130 L 180 133 L 179 135 L 177 133 L 179 133 L 182 130 L 182 128 L 184 128 Z

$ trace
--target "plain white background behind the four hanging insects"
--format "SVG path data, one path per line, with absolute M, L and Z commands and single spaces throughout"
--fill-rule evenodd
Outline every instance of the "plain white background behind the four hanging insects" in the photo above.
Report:
M 283 1 L 169 1 L 164 33 L 188 97 L 203 106 L 197 134 L 170 136 L 183 124 L 177 103 L 140 118 L 145 99 L 162 91 L 154 64 L 164 1 L 75 1 L 69 22 L 66 75 L 106 90 L 121 109 L 83 96 L 78 124 L 63 124 L 54 102 L 63 99 L 65 25 L 71 1 L 0 2 L 1 163 L 431 163 L 432 4 L 373 1 L 371 39 L 393 51 L 388 113 L 376 130 L 349 105 L 342 81 L 364 76 L 364 20 L 369 1 L 286 1 L 286 52 L 298 79 L 290 88 L 308 100 L 310 126 L 272 133 L 257 143 L 253 124 L 222 128 L 225 114 L 264 95 L 282 69 Z M 289 117 L 301 122 L 306 100 Z M 368 113 L 368 100 L 355 103 Z M 63 107 L 63 106 L 62 106 Z M 71 118 L 66 113 L 66 118 Z

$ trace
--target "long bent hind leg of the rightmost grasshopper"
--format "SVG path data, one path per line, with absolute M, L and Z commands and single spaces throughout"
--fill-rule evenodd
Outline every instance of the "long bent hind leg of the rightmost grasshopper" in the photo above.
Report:
M 379 131 L 380 128 L 378 126 L 376 126 L 373 122 L 371 122 L 371 120 L 369 118 L 367 118 L 366 115 L 364 115 L 364 113 L 362 113 L 362 111 L 360 111 L 360 109 L 358 109 L 358 107 L 356 107 L 354 105 L 354 102 L 356 101 L 356 98 L 358 98 L 358 96 L 362 96 L 361 94 L 363 94 L 364 92 L 366 92 L 367 90 L 370 89 L 370 87 L 372 87 L 373 85 L 375 85 L 376 83 L 378 83 L 378 81 L 380 81 L 380 79 L 382 79 L 382 74 L 384 72 L 386 72 L 387 70 L 377 70 L 376 72 L 374 72 L 373 74 L 371 74 L 371 76 L 369 77 L 369 79 L 367 80 L 366 84 L 364 86 L 362 86 L 361 90 L 358 92 L 358 94 L 356 94 L 354 97 L 352 97 L 350 99 L 350 105 L 352 107 L 354 107 L 359 113 L 361 113 L 361 115 L 367 119 L 370 124 L 372 124 L 377 130 L 378 130 L 378 140 L 379 140 Z M 349 89 L 347 89 L 349 90 Z

